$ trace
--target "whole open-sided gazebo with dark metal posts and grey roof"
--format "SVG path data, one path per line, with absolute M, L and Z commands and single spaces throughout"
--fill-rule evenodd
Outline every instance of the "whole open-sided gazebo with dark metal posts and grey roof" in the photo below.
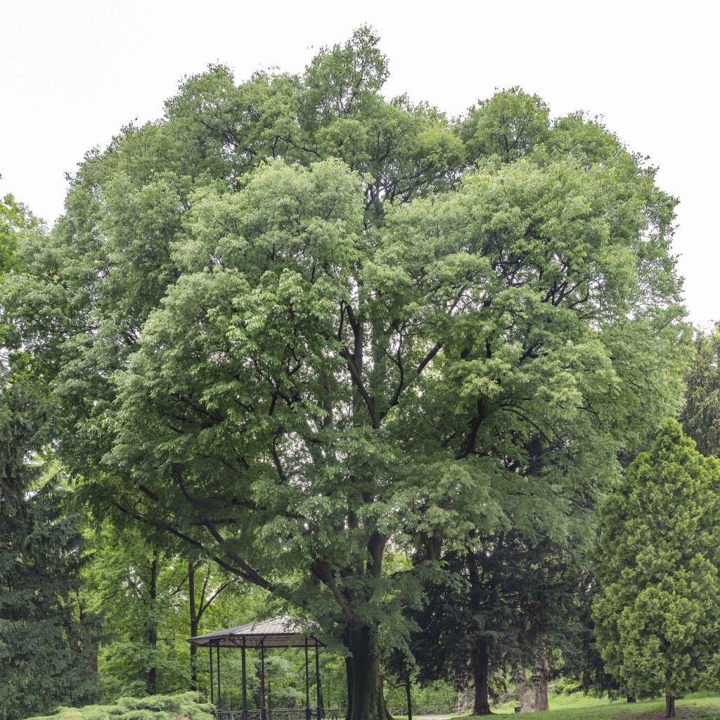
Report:
M 323 693 L 320 688 L 319 651 L 321 647 L 325 647 L 325 644 L 315 636 L 307 634 L 307 630 L 308 626 L 302 624 L 297 618 L 280 616 L 189 638 L 187 642 L 197 645 L 197 647 L 207 647 L 210 650 L 210 702 L 217 707 L 215 716 L 222 720 L 268 720 L 269 708 L 265 703 L 265 651 L 279 647 L 300 647 L 305 648 L 305 720 L 312 720 L 313 717 L 316 720 L 322 720 L 325 716 L 325 708 L 323 708 Z M 239 649 L 242 653 L 243 706 L 240 710 L 222 708 L 221 647 Z M 310 648 L 315 649 L 315 708 L 310 707 Z M 213 649 L 215 649 L 215 653 L 213 653 Z M 260 652 L 259 708 L 248 709 L 246 650 Z M 270 712 L 274 716 L 282 716 L 282 720 L 292 720 L 293 711 L 296 714 L 302 713 L 298 708 L 276 708 Z M 300 720 L 297 715 L 296 719 Z

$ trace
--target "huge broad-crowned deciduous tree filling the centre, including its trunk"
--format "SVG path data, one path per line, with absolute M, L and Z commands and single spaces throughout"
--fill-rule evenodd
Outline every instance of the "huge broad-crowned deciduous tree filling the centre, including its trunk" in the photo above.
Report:
M 683 360 L 652 168 L 520 91 L 455 126 L 386 76 L 361 29 L 300 76 L 189 78 L 2 296 L 91 496 L 323 621 L 353 720 L 443 546 L 562 534 Z

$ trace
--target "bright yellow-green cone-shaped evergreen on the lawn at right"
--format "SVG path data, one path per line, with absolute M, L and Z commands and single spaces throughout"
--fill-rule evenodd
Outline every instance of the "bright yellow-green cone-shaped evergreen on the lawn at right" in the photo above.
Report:
M 631 693 L 675 698 L 707 677 L 720 630 L 720 463 L 668 420 L 601 514 L 593 619 L 608 670 Z

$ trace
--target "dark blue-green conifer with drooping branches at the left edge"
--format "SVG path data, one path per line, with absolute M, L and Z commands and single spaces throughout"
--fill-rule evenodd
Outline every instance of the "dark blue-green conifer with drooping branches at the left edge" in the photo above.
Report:
M 81 518 L 37 453 L 48 407 L 27 374 L 0 388 L 0 714 L 87 703 L 96 688 L 94 618 L 76 603 Z

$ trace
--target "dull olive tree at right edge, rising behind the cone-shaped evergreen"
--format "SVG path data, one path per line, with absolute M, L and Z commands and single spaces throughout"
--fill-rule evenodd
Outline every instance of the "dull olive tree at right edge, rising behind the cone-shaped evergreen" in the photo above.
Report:
M 720 324 L 714 332 L 698 333 L 695 349 L 680 422 L 703 455 L 720 456 Z

